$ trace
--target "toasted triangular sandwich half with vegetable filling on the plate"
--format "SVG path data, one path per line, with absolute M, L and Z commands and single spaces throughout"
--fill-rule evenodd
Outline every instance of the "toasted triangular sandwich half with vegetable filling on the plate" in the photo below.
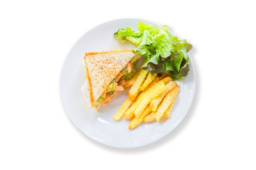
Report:
M 140 55 L 132 50 L 88 52 L 84 56 L 86 78 L 81 92 L 86 108 L 105 105 L 136 74 Z

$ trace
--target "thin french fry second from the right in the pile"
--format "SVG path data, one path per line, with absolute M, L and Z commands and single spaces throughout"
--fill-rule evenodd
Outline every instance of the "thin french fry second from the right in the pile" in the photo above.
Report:
M 161 103 L 164 96 L 166 96 L 166 94 L 168 94 L 168 92 L 170 92 L 175 87 L 177 87 L 177 83 L 175 83 L 175 81 L 170 81 L 169 83 L 167 83 L 166 90 L 150 102 L 150 110 L 156 111 L 157 106 L 159 105 L 159 103 Z

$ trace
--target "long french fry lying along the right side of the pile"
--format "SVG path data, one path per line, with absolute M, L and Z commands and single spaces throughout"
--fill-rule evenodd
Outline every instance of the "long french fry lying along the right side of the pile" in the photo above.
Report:
M 179 92 L 179 87 L 175 87 L 171 92 L 169 92 L 163 99 L 162 103 L 159 105 L 156 111 L 156 120 L 159 121 L 161 117 L 163 117 L 166 110 L 168 110 L 169 106 L 175 101 Z

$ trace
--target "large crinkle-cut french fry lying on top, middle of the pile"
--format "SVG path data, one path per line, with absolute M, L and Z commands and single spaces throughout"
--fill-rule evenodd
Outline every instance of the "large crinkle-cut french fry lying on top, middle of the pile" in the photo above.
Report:
M 143 101 L 139 104 L 139 106 L 134 110 L 135 117 L 140 117 L 141 113 L 148 104 L 154 99 L 155 97 L 159 96 L 166 90 L 166 86 L 164 85 L 164 81 L 158 81 L 156 85 L 152 86 L 145 97 L 143 97 Z

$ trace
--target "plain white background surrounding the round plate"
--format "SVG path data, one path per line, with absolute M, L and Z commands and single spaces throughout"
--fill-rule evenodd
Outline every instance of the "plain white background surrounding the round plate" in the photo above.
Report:
M 0 2 L 0 169 L 256 169 L 253 1 Z M 177 129 L 129 150 L 79 132 L 59 92 L 76 40 L 124 17 L 188 39 L 197 83 Z

